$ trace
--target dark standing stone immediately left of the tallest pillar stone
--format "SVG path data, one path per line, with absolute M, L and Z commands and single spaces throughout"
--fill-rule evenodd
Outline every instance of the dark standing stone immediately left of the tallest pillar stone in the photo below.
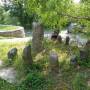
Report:
M 32 65 L 33 60 L 32 60 L 32 55 L 31 55 L 31 45 L 28 45 L 24 48 L 22 58 L 25 64 Z

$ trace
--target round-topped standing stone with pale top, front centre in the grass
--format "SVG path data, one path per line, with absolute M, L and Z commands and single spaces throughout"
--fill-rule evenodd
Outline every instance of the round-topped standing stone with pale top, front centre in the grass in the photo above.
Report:
M 50 69 L 53 74 L 59 72 L 58 55 L 55 52 L 50 53 Z

